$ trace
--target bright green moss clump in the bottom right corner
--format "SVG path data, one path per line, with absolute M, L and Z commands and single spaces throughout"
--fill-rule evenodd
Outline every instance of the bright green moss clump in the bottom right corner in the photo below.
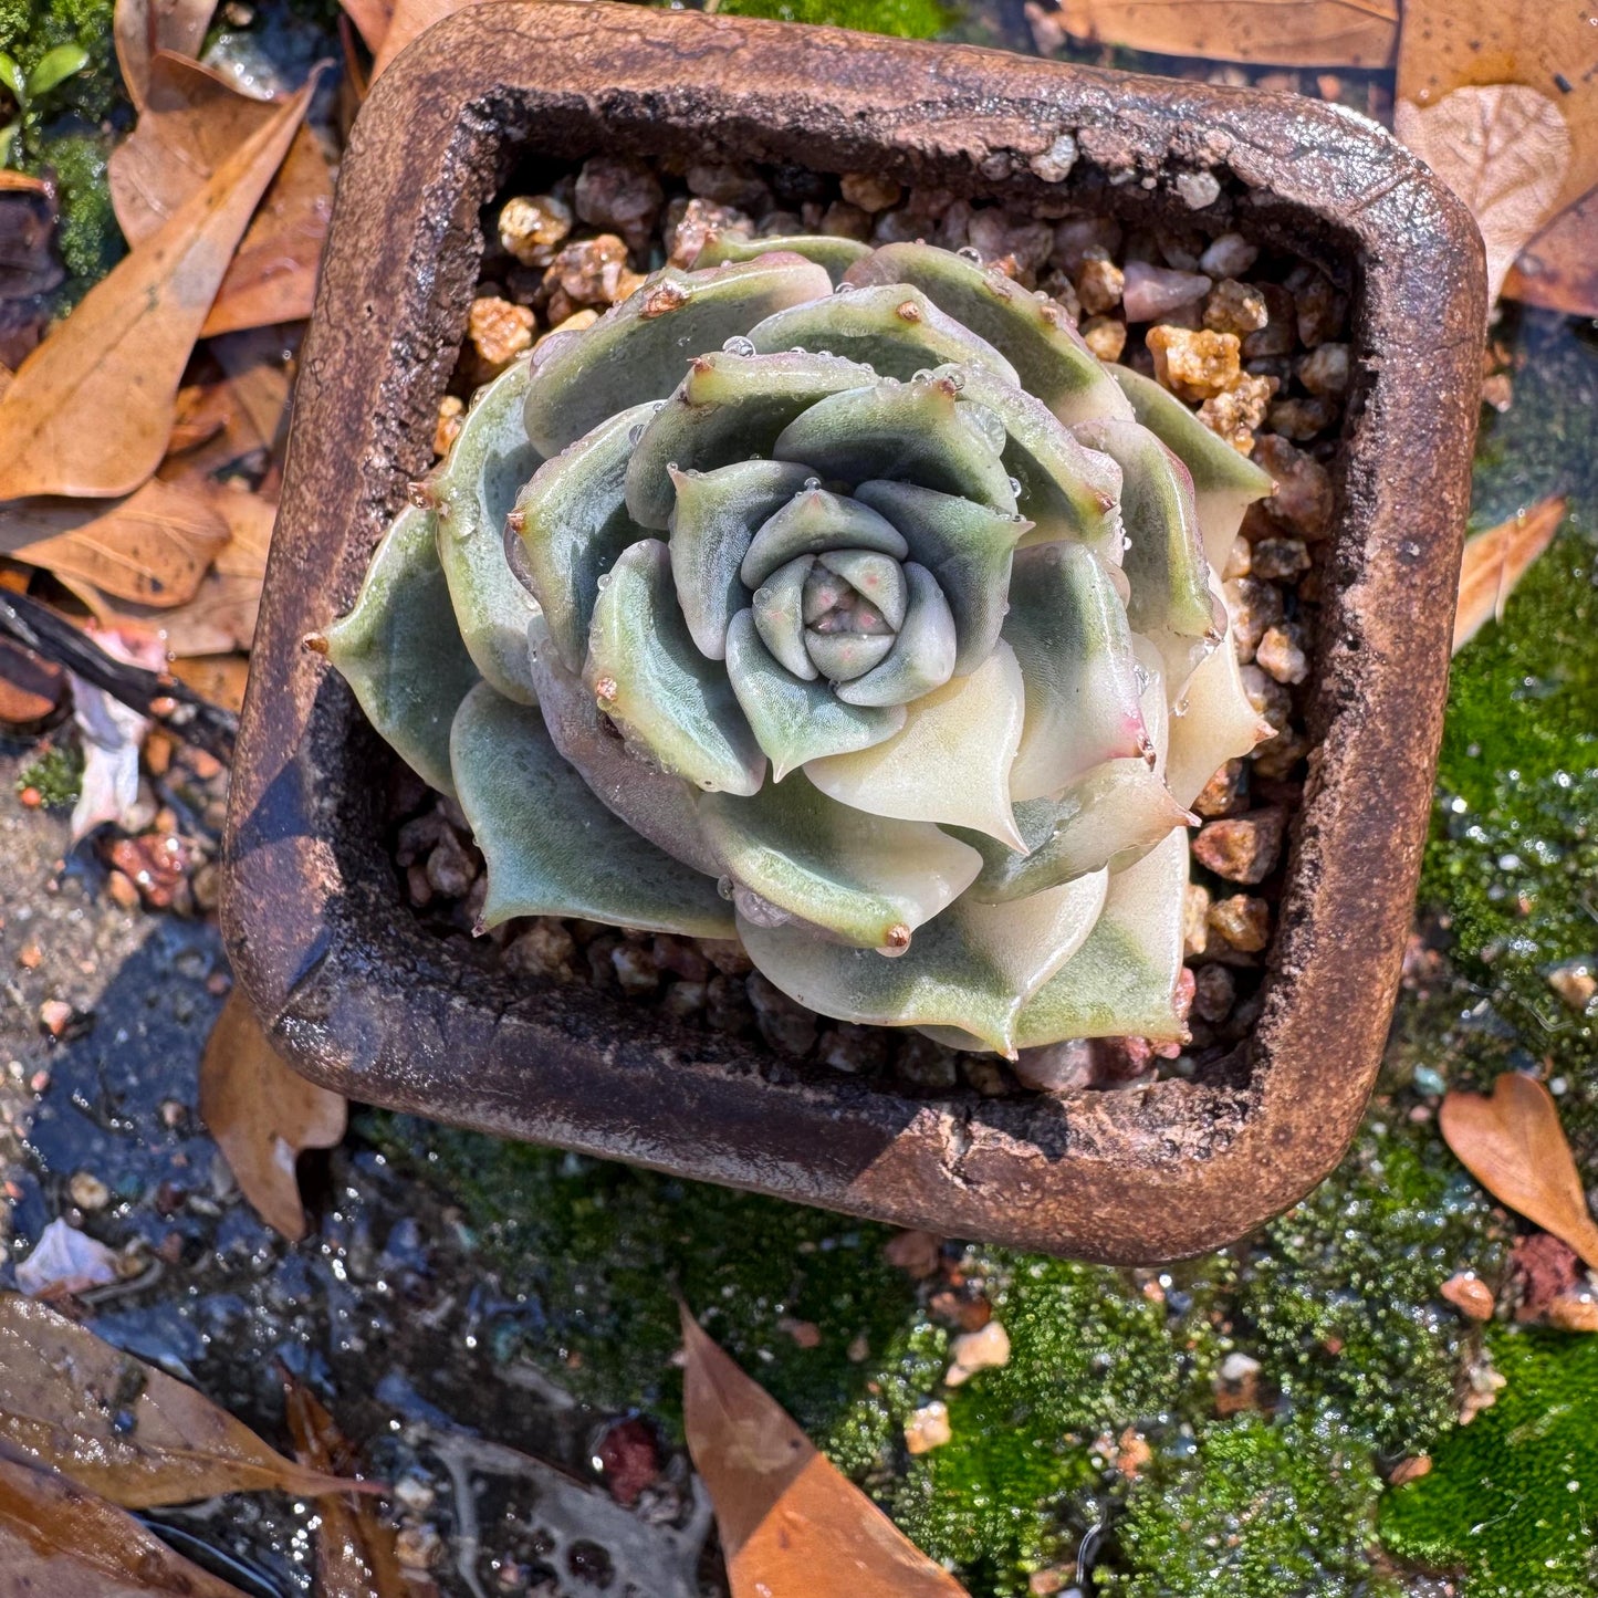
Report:
M 1507 1387 L 1387 1494 L 1382 1539 L 1440 1569 L 1464 1598 L 1588 1598 L 1598 1590 L 1598 1338 L 1496 1326 Z

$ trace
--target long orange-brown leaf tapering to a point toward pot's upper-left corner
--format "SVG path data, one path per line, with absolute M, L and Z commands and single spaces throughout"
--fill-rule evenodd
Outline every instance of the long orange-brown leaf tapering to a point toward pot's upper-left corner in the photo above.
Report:
M 0 499 L 113 499 L 150 476 L 227 260 L 313 88 L 315 77 L 18 368 L 0 398 Z

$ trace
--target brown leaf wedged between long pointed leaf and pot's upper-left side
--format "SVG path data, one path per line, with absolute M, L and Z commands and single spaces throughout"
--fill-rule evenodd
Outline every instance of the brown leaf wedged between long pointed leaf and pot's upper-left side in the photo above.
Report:
M 201 337 L 310 316 L 331 216 L 328 157 L 302 126 L 222 278 Z

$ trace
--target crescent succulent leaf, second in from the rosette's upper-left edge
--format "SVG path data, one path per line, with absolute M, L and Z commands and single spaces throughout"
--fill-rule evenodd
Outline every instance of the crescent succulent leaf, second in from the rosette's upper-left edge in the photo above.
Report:
M 532 591 L 572 671 L 588 649 L 599 578 L 628 545 L 649 537 L 628 513 L 625 486 L 633 428 L 652 414 L 641 404 L 601 422 L 539 467 L 511 511 Z

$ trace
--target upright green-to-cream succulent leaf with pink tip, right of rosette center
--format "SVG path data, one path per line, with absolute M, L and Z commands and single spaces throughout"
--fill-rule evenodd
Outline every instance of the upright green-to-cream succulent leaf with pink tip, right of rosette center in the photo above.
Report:
M 1152 759 L 1127 610 L 1083 545 L 1021 550 L 1004 636 L 1026 682 L 1012 799 L 1056 794 L 1104 761 Z

